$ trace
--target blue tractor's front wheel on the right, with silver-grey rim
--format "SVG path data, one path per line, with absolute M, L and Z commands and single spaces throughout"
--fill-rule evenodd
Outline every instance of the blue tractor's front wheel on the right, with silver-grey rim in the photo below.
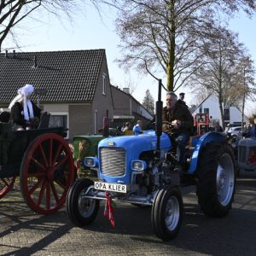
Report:
M 155 232 L 163 241 L 177 236 L 183 219 L 183 197 L 176 187 L 160 189 L 151 210 L 151 222 Z

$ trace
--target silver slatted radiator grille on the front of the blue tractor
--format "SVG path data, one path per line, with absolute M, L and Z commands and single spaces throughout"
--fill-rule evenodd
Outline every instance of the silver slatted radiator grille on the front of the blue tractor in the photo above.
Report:
M 124 148 L 101 148 L 100 161 L 103 174 L 113 177 L 125 175 Z

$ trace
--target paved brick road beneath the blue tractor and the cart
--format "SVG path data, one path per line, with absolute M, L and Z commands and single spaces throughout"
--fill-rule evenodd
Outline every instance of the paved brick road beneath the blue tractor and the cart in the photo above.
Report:
M 162 242 L 151 228 L 150 207 L 118 204 L 113 229 L 102 206 L 96 221 L 83 230 L 70 223 L 65 207 L 51 216 L 34 214 L 15 189 L 0 201 L 0 254 L 256 255 L 256 173 L 241 173 L 226 218 L 202 214 L 194 192 L 183 201 L 177 238 Z

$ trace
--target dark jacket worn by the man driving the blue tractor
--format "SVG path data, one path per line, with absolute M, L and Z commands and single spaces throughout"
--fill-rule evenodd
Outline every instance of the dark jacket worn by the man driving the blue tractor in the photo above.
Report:
M 162 120 L 172 122 L 180 120 L 181 126 L 178 129 L 170 129 L 169 125 L 163 124 L 163 131 L 170 135 L 178 135 L 182 132 L 191 132 L 194 128 L 194 119 L 189 112 L 189 108 L 182 104 L 176 103 L 173 109 L 163 108 Z

